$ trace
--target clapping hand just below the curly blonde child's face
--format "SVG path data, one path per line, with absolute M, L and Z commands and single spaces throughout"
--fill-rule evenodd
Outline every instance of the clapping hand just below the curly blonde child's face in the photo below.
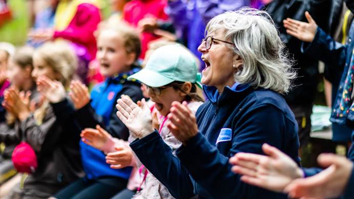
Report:
M 66 96 L 65 88 L 60 82 L 53 81 L 45 76 L 38 78 L 37 90 L 51 103 L 61 102 Z

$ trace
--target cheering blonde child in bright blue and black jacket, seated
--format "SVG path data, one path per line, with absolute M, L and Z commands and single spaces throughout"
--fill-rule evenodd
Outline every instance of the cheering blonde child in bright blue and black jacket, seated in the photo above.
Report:
M 82 129 L 105 129 L 110 136 L 127 140 L 128 129 L 117 117 L 115 102 L 121 95 L 128 95 L 134 101 L 143 97 L 140 83 L 128 81 L 131 74 L 140 70 L 136 61 L 141 52 L 141 43 L 136 31 L 125 24 L 100 26 L 97 37 L 97 59 L 106 80 L 89 89 L 79 81 L 70 85 L 72 107 Z M 63 104 L 68 104 L 64 98 Z M 86 176 L 55 194 L 56 198 L 110 198 L 124 189 L 130 176 L 131 167 L 111 168 L 105 155 L 96 148 L 80 141 L 81 160 Z

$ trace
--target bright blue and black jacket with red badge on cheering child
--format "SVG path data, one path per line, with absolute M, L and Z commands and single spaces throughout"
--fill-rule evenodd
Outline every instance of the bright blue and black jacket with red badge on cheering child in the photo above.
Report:
M 113 137 L 127 140 L 129 131 L 116 115 L 116 102 L 122 94 L 130 96 L 135 102 L 143 98 L 140 83 L 126 80 L 128 76 L 139 70 L 140 68 L 136 67 L 128 73 L 107 78 L 106 81 L 96 85 L 91 92 L 91 104 L 87 104 L 75 113 L 81 127 L 96 128 L 96 125 L 100 125 Z M 80 152 L 83 169 L 88 179 L 109 176 L 129 178 L 131 167 L 110 168 L 103 152 L 82 141 L 80 141 Z

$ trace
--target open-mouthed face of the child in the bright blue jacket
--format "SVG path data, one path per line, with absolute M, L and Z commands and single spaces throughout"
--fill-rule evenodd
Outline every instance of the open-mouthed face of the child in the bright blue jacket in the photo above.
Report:
M 100 72 L 105 77 L 129 71 L 134 62 L 126 53 L 123 39 L 111 30 L 102 31 L 97 39 L 97 60 Z

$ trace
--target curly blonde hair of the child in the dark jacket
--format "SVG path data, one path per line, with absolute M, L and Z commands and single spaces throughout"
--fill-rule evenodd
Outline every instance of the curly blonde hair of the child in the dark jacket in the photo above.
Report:
M 78 59 L 71 46 L 64 41 L 46 42 L 38 47 L 34 55 L 43 59 L 54 71 L 61 74 L 60 81 L 69 86 L 77 68 Z

